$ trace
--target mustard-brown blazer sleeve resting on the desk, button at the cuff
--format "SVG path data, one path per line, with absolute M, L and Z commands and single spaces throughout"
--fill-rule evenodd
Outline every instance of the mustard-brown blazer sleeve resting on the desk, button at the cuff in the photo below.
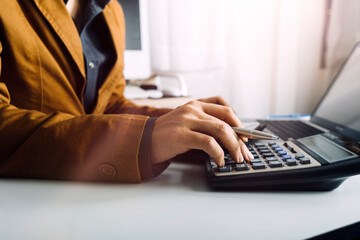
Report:
M 0 42 L 0 73 L 1 73 Z M 0 176 L 140 182 L 147 116 L 19 109 L 0 78 Z

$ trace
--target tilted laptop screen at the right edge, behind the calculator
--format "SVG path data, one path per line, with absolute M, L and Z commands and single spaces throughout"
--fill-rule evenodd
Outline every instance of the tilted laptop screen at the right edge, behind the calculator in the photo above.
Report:
M 313 112 L 312 121 L 360 141 L 360 44 L 357 44 Z

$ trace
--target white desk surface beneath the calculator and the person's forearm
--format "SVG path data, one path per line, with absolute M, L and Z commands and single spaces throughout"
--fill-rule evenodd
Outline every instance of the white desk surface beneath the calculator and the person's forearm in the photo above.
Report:
M 1 179 L 0 239 L 304 239 L 359 221 L 359 186 L 214 192 L 179 163 L 143 184 Z

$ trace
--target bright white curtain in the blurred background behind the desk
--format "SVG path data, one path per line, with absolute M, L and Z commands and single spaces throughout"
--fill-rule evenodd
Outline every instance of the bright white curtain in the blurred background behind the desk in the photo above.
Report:
M 311 113 L 325 0 L 149 0 L 152 68 L 184 74 L 194 97 L 241 118 Z

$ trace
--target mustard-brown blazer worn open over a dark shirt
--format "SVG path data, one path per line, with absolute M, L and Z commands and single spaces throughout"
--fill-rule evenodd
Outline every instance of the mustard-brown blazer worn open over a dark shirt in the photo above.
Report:
M 83 51 L 64 1 L 0 0 L 0 176 L 140 182 L 146 120 L 168 110 L 125 99 L 123 12 L 112 0 L 103 14 L 117 60 L 85 114 Z

